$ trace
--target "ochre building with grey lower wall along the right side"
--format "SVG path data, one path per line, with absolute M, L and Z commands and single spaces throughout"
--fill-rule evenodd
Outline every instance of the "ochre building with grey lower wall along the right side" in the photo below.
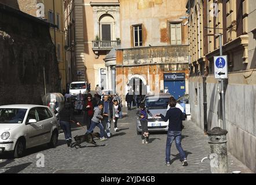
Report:
M 188 0 L 186 8 L 191 119 L 204 131 L 223 127 L 221 86 L 214 78 L 214 56 L 220 56 L 221 42 L 228 57 L 224 80 L 228 150 L 256 171 L 256 2 Z

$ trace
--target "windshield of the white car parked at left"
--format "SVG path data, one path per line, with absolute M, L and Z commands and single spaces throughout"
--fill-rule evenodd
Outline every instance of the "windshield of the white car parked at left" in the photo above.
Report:
M 23 123 L 27 109 L 0 108 L 1 123 Z

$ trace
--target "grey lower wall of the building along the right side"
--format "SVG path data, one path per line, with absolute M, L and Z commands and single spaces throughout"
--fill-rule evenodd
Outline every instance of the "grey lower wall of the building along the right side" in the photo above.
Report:
M 229 74 L 225 91 L 226 130 L 228 150 L 256 172 L 256 73 L 244 79 L 243 73 Z M 247 80 L 247 83 L 244 83 Z M 189 79 L 191 119 L 203 129 L 202 77 Z M 207 77 L 207 124 L 208 129 L 219 127 L 218 82 L 214 76 Z M 198 88 L 198 94 L 195 93 Z M 193 92 L 193 93 L 192 93 Z M 197 102 L 197 103 L 195 103 Z M 222 125 L 222 121 L 220 121 Z M 202 131 L 203 134 L 203 131 Z

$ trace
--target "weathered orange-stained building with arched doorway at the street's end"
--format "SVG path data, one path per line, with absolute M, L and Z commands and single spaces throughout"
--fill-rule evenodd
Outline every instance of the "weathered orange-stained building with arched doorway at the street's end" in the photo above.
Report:
M 125 95 L 188 93 L 185 1 L 120 0 L 122 45 L 116 50 L 116 91 Z

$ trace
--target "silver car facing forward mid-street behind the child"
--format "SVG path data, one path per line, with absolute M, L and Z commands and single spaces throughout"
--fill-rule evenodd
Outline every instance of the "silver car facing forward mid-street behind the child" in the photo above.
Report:
M 152 113 L 153 116 L 156 114 L 166 115 L 167 106 L 169 103 L 170 94 L 163 95 L 146 95 L 144 98 L 144 103 L 146 108 L 149 109 L 149 112 Z M 158 131 L 168 131 L 169 121 L 164 122 L 160 117 L 153 118 L 148 115 L 148 131 L 149 132 L 158 132 Z M 140 120 L 137 118 L 137 134 L 141 134 L 142 128 L 140 124 Z

